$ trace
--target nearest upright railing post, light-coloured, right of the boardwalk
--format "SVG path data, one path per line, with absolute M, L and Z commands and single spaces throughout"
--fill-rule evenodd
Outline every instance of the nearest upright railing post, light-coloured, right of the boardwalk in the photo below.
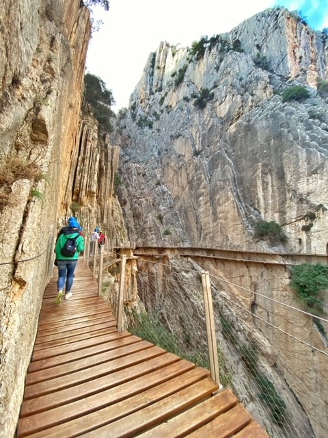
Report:
M 210 376 L 214 381 L 219 383 L 219 389 L 221 389 L 222 385 L 220 385 L 219 358 L 217 355 L 217 337 L 215 335 L 215 320 L 213 313 L 212 294 L 210 290 L 210 275 L 208 274 L 208 271 L 202 272 L 202 286 L 208 342 L 208 357 L 210 359 Z

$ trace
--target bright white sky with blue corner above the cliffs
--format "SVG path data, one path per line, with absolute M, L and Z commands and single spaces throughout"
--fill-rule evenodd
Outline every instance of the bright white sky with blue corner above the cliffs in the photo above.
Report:
M 228 32 L 275 5 L 298 10 L 315 30 L 328 27 L 328 0 L 110 0 L 109 11 L 93 8 L 103 23 L 92 34 L 86 73 L 105 82 L 118 112 L 141 78 L 150 53 L 161 41 L 191 47 L 201 36 Z

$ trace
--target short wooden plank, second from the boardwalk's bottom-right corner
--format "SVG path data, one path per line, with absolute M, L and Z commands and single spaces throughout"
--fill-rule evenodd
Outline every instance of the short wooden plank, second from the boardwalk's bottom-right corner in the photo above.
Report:
M 229 438 L 251 422 L 251 415 L 242 404 L 216 417 L 205 426 L 187 435 L 188 438 Z

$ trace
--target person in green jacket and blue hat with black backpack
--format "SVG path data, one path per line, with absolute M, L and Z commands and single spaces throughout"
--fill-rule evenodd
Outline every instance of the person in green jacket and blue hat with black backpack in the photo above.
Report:
M 72 288 L 74 271 L 77 267 L 79 253 L 84 250 L 84 238 L 79 233 L 79 224 L 70 222 L 70 226 L 63 234 L 61 234 L 56 242 L 55 253 L 58 267 L 57 280 L 57 299 L 59 304 L 64 295 L 63 289 L 66 285 L 65 299 L 68 300 L 72 296 L 70 289 Z

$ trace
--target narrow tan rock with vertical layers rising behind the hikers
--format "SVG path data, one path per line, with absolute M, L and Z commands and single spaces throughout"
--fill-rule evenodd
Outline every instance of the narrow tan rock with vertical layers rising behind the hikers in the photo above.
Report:
M 109 134 L 98 133 L 98 121 L 83 112 L 77 133 L 77 147 L 72 153 L 72 171 L 68 175 L 64 198 L 64 216 L 76 216 L 86 237 L 96 226 L 115 244 L 127 242 L 128 237 L 122 209 L 115 195 L 120 147 L 113 146 Z

